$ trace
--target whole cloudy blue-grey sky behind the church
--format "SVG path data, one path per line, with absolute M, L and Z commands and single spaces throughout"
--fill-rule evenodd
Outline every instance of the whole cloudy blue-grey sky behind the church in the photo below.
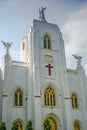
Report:
M 39 8 L 46 7 L 45 17 L 57 24 L 62 32 L 67 68 L 75 69 L 72 54 L 83 56 L 87 75 L 87 0 L 0 0 L 0 58 L 5 53 L 1 41 L 13 42 L 10 54 L 20 58 L 20 42 L 27 36 L 33 19 L 39 18 Z

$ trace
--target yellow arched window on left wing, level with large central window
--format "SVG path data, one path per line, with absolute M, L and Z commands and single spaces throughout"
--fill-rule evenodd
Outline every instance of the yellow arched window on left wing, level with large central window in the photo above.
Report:
M 15 91 L 14 100 L 16 106 L 23 106 L 23 92 L 20 88 Z

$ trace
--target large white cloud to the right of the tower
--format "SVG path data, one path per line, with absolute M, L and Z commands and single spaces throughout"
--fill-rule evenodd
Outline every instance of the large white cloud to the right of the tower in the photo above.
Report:
M 74 59 L 72 54 L 83 56 L 83 66 L 87 64 L 87 6 L 80 8 L 71 14 L 62 28 L 65 41 L 66 59 L 69 67 L 72 67 Z M 87 67 L 85 67 L 87 73 Z

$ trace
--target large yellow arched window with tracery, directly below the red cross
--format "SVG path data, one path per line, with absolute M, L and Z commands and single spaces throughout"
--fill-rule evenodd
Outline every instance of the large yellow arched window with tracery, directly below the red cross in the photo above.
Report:
M 45 102 L 46 106 L 55 106 L 56 105 L 55 92 L 54 92 L 54 89 L 52 89 L 51 87 L 48 87 L 45 90 L 44 102 Z

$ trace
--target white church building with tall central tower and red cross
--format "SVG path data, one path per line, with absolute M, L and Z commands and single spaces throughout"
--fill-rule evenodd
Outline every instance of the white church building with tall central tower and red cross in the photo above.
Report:
M 87 79 L 77 59 L 75 70 L 66 68 L 65 48 L 57 25 L 48 23 L 45 8 L 33 20 L 21 41 L 21 61 L 11 58 L 11 43 L 0 65 L 0 122 L 10 130 L 18 121 L 24 130 L 29 119 L 34 130 L 43 130 L 48 119 L 51 130 L 87 130 Z

